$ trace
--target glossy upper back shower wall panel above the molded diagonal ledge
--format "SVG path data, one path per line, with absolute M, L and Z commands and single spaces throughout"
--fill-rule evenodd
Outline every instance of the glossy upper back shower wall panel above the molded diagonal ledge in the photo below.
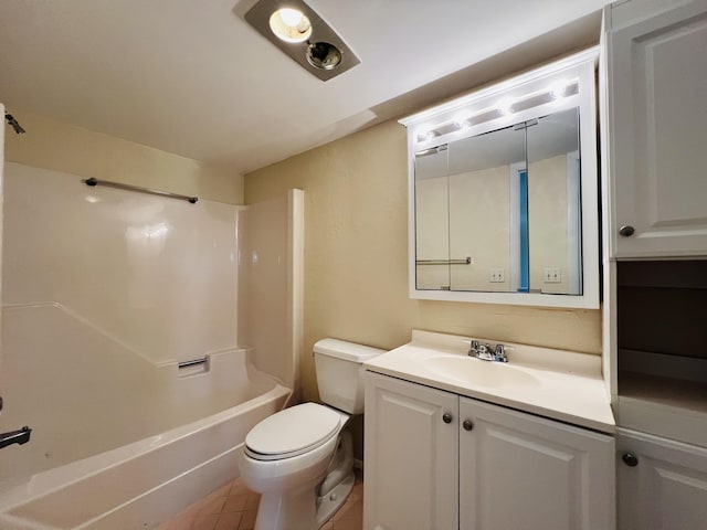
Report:
M 4 306 L 59 303 L 155 364 L 238 344 L 238 206 L 4 169 Z

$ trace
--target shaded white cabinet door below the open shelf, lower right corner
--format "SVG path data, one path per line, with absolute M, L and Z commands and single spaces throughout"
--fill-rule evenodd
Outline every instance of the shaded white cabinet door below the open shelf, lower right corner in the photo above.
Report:
M 707 449 L 623 430 L 618 447 L 620 530 L 707 528 Z

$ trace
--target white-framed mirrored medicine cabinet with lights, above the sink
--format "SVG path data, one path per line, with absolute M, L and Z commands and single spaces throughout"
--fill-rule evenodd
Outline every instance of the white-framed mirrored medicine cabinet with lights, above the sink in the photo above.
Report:
M 599 307 L 597 56 L 401 120 L 412 298 Z

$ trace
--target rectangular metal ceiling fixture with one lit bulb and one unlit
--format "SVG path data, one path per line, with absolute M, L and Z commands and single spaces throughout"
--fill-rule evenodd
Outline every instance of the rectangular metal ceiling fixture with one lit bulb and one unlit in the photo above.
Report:
M 245 21 L 321 81 L 360 63 L 344 40 L 304 0 L 260 0 Z

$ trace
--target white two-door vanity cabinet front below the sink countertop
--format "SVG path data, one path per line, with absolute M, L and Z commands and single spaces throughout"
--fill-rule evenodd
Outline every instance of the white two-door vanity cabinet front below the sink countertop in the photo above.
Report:
M 614 528 L 614 439 L 366 373 L 366 530 Z

